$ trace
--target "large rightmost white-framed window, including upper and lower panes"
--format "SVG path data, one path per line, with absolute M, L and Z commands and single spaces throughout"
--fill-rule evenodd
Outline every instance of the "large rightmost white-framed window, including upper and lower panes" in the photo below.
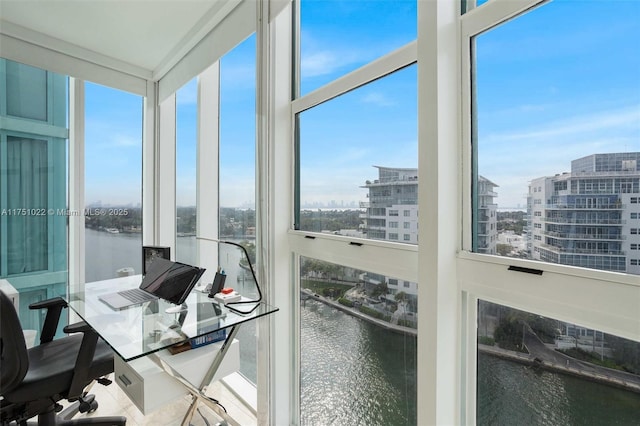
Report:
M 640 5 L 575 6 L 462 18 L 468 422 L 627 424 L 640 404 Z

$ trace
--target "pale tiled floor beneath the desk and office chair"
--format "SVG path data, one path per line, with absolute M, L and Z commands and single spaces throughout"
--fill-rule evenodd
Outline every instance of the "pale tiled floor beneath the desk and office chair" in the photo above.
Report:
M 91 414 L 78 414 L 74 419 L 86 416 L 100 417 L 117 415 L 127 417 L 127 426 L 180 425 L 191 402 L 191 398 L 185 396 L 153 413 L 144 415 L 129 400 L 127 395 L 120 390 L 115 382 L 106 387 L 96 384 L 91 388 L 89 393 L 96 396 L 99 404 L 98 409 Z M 218 399 L 226 408 L 228 414 L 237 421 L 239 425 L 256 425 L 255 416 L 244 407 L 222 383 L 212 383 L 207 391 L 207 395 Z M 201 403 L 198 404 L 198 410 L 194 414 L 191 424 L 194 426 L 214 426 L 220 421 L 221 418 L 217 414 Z

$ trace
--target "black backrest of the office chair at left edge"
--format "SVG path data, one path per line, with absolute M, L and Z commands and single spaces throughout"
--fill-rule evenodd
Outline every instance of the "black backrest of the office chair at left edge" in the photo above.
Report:
M 29 369 L 29 355 L 18 314 L 0 290 L 0 395 L 19 385 Z

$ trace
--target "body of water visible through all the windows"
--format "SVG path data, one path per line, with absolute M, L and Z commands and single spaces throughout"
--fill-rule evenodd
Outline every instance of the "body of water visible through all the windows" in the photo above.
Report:
M 113 278 L 123 267 L 141 271 L 140 234 L 87 229 L 86 250 L 87 281 Z M 192 263 L 195 239 L 178 238 L 177 254 Z M 230 251 L 220 261 L 237 264 L 236 255 Z M 229 268 L 227 279 L 241 286 L 241 273 Z M 241 372 L 255 382 L 255 324 L 242 326 L 238 338 Z M 309 299 L 301 309 L 300 341 L 302 424 L 416 424 L 415 337 Z M 478 355 L 477 387 L 478 425 L 640 426 L 636 393 L 485 354 Z

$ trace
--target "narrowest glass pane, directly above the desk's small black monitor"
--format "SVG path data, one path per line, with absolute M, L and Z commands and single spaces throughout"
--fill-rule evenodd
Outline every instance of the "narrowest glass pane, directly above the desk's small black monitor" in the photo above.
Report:
M 196 265 L 196 152 L 198 79 L 176 93 L 176 254 Z

